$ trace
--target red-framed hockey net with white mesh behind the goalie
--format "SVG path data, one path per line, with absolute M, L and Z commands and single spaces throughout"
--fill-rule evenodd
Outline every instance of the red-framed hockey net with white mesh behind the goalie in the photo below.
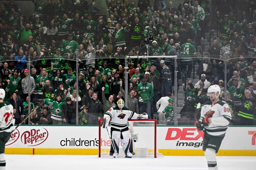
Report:
M 111 141 L 107 130 L 100 127 L 102 121 L 103 119 L 99 121 L 99 157 L 109 157 Z M 133 151 L 136 153 L 134 157 L 140 157 L 140 151 L 146 152 L 145 157 L 156 158 L 162 156 L 162 154 L 158 153 L 156 148 L 156 120 L 131 119 L 128 120 L 127 126 L 132 135 Z M 107 128 L 110 133 L 111 121 Z M 122 143 L 120 142 L 119 156 L 121 157 L 122 154 L 124 153 Z

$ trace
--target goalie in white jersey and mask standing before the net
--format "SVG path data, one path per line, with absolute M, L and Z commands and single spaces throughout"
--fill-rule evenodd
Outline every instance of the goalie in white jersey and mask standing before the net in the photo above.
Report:
M 135 153 L 133 152 L 132 136 L 130 131 L 128 130 L 127 121 L 128 119 L 148 119 L 148 115 L 147 114 L 138 115 L 137 113 L 129 110 L 129 108 L 124 106 L 124 100 L 119 99 L 117 101 L 117 106 L 111 107 L 104 114 L 104 122 L 106 124 L 106 127 L 108 126 L 110 119 L 112 119 L 111 138 L 116 149 L 115 151 L 115 149 L 111 144 L 110 153 L 109 153 L 110 156 L 113 156 L 113 157 L 118 156 L 119 144 L 120 144 L 120 138 L 121 138 L 125 158 L 131 158 L 133 155 L 135 155 Z M 105 126 L 103 125 L 103 128 L 104 127 Z

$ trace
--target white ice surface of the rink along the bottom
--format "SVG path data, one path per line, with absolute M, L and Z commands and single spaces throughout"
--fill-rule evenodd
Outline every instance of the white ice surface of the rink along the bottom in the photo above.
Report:
M 207 170 L 203 156 L 98 158 L 96 155 L 5 155 L 6 170 Z M 219 156 L 219 170 L 255 170 L 256 157 Z

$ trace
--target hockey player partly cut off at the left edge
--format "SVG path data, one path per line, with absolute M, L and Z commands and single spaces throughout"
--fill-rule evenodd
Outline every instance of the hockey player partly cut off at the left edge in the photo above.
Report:
M 0 170 L 5 170 L 4 149 L 5 143 L 10 139 L 15 119 L 12 105 L 4 101 L 5 91 L 0 89 Z

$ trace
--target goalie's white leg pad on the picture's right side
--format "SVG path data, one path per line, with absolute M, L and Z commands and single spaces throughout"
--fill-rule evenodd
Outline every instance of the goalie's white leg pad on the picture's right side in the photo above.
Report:
M 135 153 L 133 152 L 131 133 L 128 130 L 126 130 L 122 132 L 122 135 L 123 139 L 121 141 L 123 144 L 124 154 L 129 157 L 135 155 Z

